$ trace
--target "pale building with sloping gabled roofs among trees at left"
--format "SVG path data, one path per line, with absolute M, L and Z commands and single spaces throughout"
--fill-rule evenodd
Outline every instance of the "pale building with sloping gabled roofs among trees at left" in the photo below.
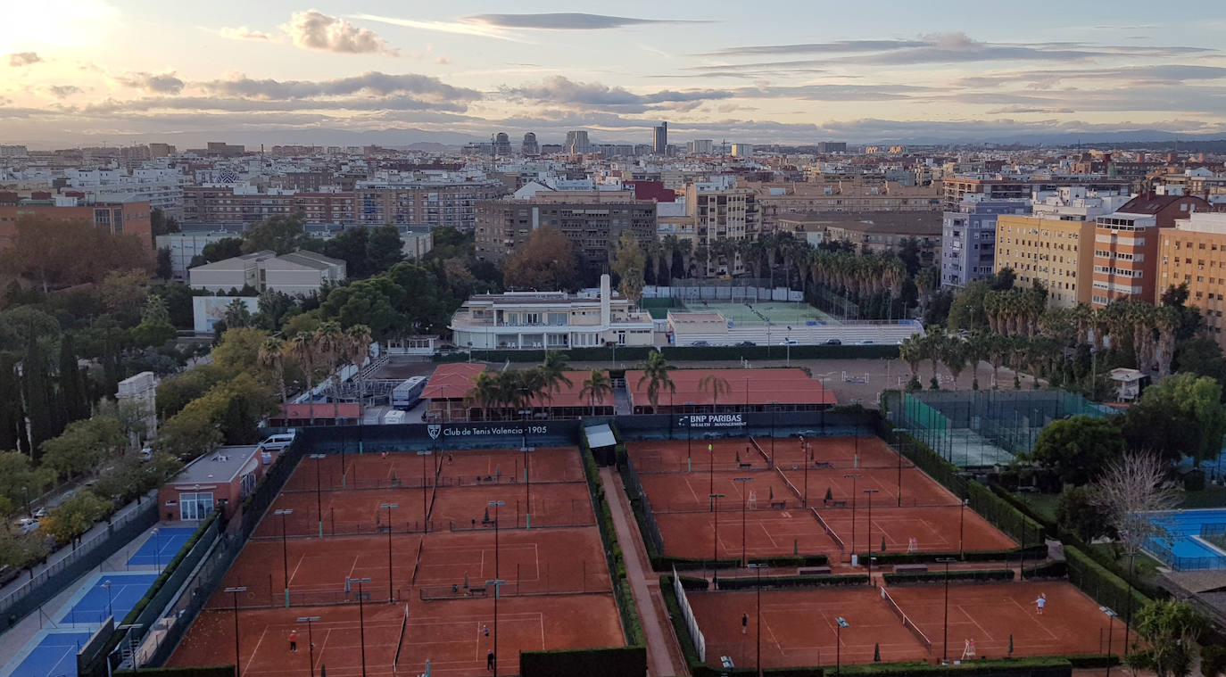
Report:
M 273 251 L 254 251 L 196 266 L 188 275 L 192 289 L 226 292 L 251 286 L 259 292 L 271 289 L 310 296 L 325 283 L 343 281 L 345 261 L 306 250 L 282 256 Z

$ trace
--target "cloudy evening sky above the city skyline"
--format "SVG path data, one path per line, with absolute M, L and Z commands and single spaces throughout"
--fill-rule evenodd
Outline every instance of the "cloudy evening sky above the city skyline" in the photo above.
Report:
M 1226 2 L 0 0 L 0 143 L 1226 137 Z

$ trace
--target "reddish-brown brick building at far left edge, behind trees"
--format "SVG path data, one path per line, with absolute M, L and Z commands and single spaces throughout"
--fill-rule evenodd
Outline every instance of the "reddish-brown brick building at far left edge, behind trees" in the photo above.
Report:
M 17 221 L 34 216 L 51 222 L 85 221 L 116 235 L 136 235 L 147 249 L 153 249 L 150 224 L 150 204 L 92 202 L 82 197 L 47 195 L 45 199 L 17 199 L 16 193 L 0 193 L 0 249 L 17 235 Z

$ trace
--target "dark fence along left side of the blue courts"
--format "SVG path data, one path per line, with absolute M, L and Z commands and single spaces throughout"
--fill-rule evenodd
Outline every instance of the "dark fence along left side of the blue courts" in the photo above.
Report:
M 65 546 L 72 548 L 65 557 L 34 574 L 0 600 L 0 618 L 6 619 L 5 629 L 16 625 L 18 621 L 63 592 L 72 581 L 101 565 L 154 524 L 157 524 L 157 499 L 145 497 L 135 508 L 129 505 L 129 509 L 113 516 L 104 531 L 75 547 Z

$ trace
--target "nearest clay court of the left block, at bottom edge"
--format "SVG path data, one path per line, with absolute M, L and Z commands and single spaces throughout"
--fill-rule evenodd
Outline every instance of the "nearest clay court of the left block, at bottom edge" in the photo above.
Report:
M 459 677 L 484 675 L 485 652 L 493 648 L 494 600 L 456 600 L 408 603 L 367 603 L 359 621 L 358 605 L 261 608 L 239 611 L 239 656 L 243 675 L 319 675 L 326 668 L 336 677 L 362 675 L 363 632 L 367 675 L 421 675 L 430 661 L 433 675 Z M 308 650 L 306 623 L 313 622 L 314 659 Z M 363 630 L 364 627 L 364 630 Z M 488 627 L 487 637 L 482 628 Z M 298 651 L 289 652 L 289 632 L 298 630 Z M 498 602 L 498 666 L 504 673 L 519 670 L 519 652 L 625 644 L 611 594 L 550 597 L 506 596 Z M 400 661 L 394 660 L 400 649 Z M 217 665 L 233 661 L 234 612 L 204 611 L 168 666 Z

